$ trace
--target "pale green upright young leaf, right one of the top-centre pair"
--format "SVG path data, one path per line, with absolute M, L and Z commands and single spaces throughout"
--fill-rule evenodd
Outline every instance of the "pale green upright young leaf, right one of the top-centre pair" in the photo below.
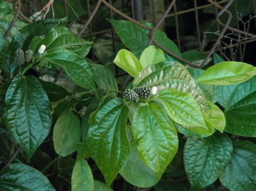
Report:
M 160 48 L 156 48 L 152 45 L 145 48 L 139 58 L 139 62 L 143 69 L 161 61 L 165 61 L 164 52 Z

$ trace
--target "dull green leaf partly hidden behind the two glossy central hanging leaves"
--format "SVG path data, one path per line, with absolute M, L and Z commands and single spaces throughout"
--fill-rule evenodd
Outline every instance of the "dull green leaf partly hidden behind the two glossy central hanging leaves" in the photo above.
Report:
M 133 186 L 147 188 L 156 185 L 158 182 L 157 174 L 139 158 L 136 144 L 133 141 L 130 143 L 131 153 L 129 160 L 119 173 Z

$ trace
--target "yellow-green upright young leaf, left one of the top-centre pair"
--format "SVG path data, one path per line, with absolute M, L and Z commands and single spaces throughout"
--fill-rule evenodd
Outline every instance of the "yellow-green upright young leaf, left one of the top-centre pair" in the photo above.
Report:
M 125 72 L 129 73 L 132 77 L 135 77 L 138 72 L 143 69 L 136 56 L 127 49 L 120 49 L 113 62 L 120 68 L 124 69 Z

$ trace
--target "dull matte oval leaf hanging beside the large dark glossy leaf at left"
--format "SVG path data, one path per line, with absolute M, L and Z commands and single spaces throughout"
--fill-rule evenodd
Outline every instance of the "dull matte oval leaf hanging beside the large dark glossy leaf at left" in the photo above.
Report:
M 57 154 L 62 157 L 76 151 L 80 142 L 81 128 L 72 110 L 63 111 L 53 128 L 53 144 Z

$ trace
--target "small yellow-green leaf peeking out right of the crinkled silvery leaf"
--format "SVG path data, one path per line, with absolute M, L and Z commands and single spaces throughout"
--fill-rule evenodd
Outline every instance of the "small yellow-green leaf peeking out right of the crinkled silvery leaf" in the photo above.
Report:
M 226 125 L 224 113 L 218 108 L 217 105 L 213 104 L 212 102 L 208 101 L 208 104 L 210 105 L 211 109 L 204 112 L 203 117 L 205 121 L 223 133 Z

